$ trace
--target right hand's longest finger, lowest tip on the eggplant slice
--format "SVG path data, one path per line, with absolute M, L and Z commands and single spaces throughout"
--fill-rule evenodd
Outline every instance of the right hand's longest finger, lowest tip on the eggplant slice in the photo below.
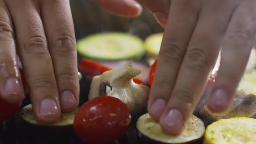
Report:
M 218 12 L 215 11 L 216 7 Z M 160 119 L 162 128 L 170 134 L 180 134 L 193 114 L 207 84 L 210 70 L 215 65 L 221 39 L 235 8 L 236 4 L 215 1 L 208 1 L 203 6 L 171 98 Z M 225 13 L 222 13 L 224 10 Z

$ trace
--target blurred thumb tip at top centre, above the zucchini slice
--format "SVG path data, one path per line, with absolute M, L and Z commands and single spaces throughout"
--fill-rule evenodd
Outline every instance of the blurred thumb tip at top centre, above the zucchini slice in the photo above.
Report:
M 135 0 L 93 0 L 110 13 L 124 17 L 136 17 L 142 7 Z

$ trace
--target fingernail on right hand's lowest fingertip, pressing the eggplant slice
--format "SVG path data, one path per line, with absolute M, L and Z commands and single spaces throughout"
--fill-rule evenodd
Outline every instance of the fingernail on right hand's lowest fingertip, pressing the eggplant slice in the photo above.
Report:
M 179 131 L 183 123 L 181 111 L 178 111 L 177 109 L 172 109 L 167 113 L 167 115 L 165 115 L 163 121 L 166 129 L 169 129 L 171 131 Z

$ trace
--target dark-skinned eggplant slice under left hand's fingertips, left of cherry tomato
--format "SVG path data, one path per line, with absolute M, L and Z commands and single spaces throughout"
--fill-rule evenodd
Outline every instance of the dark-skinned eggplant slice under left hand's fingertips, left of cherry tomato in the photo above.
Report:
M 22 131 L 27 137 L 40 141 L 65 141 L 74 135 L 72 125 L 78 108 L 71 113 L 62 113 L 59 121 L 53 124 L 41 124 L 33 115 L 32 105 L 26 105 L 20 111 Z

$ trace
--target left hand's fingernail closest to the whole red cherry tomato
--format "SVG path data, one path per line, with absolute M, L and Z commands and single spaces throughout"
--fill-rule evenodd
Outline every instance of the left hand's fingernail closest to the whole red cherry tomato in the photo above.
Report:
M 64 108 L 65 110 L 66 109 L 69 110 L 69 109 L 73 108 L 74 105 L 76 105 L 76 102 L 77 101 L 75 99 L 75 96 L 70 91 L 63 92 L 60 97 L 61 108 Z

